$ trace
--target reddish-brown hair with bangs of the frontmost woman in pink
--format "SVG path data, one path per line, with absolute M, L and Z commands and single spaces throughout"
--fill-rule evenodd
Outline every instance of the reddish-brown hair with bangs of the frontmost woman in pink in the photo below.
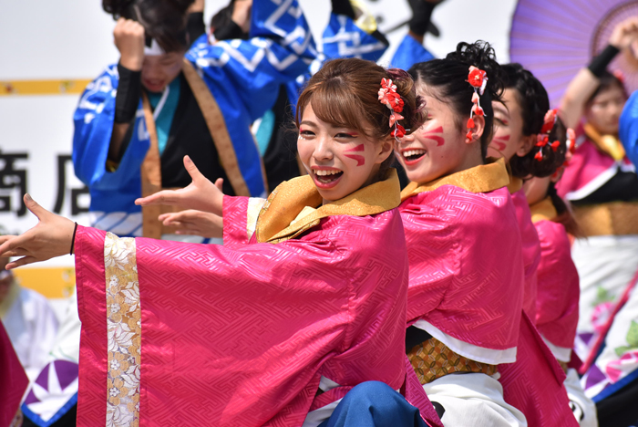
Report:
M 355 129 L 375 141 L 385 140 L 395 131 L 389 126 L 392 110 L 379 102 L 378 91 L 383 78 L 392 79 L 396 93 L 404 102 L 398 120 L 406 133 L 417 130 L 423 124 L 423 99 L 417 96 L 412 78 L 398 68 L 386 69 L 372 61 L 358 58 L 342 58 L 328 61 L 311 79 L 299 97 L 295 122 L 297 127 L 304 117 L 304 109 L 310 104 L 314 114 L 335 127 Z M 394 161 L 390 155 L 381 170 Z

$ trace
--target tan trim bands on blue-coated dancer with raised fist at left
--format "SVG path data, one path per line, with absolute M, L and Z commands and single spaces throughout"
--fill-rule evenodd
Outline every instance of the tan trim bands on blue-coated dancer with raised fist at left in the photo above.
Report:
M 201 79 L 200 75 L 186 58 L 184 58 L 181 71 L 184 73 L 184 78 L 186 78 L 186 81 L 189 83 L 195 99 L 197 99 L 201 114 L 204 116 L 206 125 L 211 132 L 212 141 L 219 155 L 221 166 L 224 172 L 226 172 L 229 182 L 231 182 L 232 190 L 238 196 L 250 196 L 251 193 L 240 171 L 231 136 L 226 128 L 226 122 L 221 115 L 217 101 L 211 94 L 211 90 L 208 89 L 206 83 Z M 150 140 L 149 151 L 141 166 L 142 197 L 147 197 L 150 194 L 158 193 L 165 189 L 161 186 L 160 149 L 158 145 L 158 134 L 155 129 L 155 120 L 153 120 L 153 112 L 150 109 L 149 98 L 143 91 L 142 106 Z M 263 182 L 264 184 L 267 182 L 265 175 Z M 142 206 L 142 233 L 144 237 L 160 239 L 162 234 L 173 234 L 175 229 L 173 227 L 165 227 L 161 224 L 160 221 L 158 221 L 158 216 L 160 216 L 161 213 L 180 212 L 181 210 L 183 209 L 179 206 Z

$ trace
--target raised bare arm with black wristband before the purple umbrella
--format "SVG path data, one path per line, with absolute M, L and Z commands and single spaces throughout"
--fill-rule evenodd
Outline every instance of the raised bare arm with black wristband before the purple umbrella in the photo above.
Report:
M 581 68 L 575 78 L 571 80 L 561 99 L 561 119 L 568 128 L 575 128 L 585 107 L 587 99 L 598 88 L 599 78 L 612 62 L 613 58 L 624 49 L 629 48 L 638 36 L 638 17 L 631 17 L 613 28 L 609 45 L 598 57 L 592 59 L 587 68 Z

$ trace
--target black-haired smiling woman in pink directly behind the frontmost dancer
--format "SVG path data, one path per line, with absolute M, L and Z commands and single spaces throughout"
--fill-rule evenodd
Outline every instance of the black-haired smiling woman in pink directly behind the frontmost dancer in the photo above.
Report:
M 407 355 L 444 425 L 525 426 L 497 373 L 516 359 L 523 290 L 509 177 L 504 161 L 485 162 L 499 64 L 488 44 L 461 43 L 409 73 L 427 120 L 397 150 L 412 181 L 399 208 L 410 263 Z M 468 129 L 475 87 L 486 112 Z

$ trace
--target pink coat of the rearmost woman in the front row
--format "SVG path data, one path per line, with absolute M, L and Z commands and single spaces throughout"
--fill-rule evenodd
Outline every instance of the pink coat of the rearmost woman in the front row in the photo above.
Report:
M 562 224 L 550 219 L 534 222 L 540 239 L 536 328 L 549 341 L 554 356 L 570 361 L 578 326 L 581 293 L 571 243 Z

